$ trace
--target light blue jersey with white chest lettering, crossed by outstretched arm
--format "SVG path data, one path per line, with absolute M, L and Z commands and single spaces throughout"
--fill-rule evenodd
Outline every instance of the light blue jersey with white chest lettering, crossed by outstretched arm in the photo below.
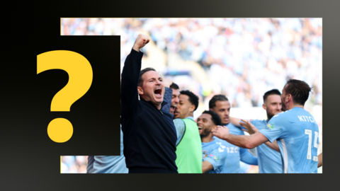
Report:
M 229 123 L 227 127 L 230 134 L 244 135 L 242 129 L 232 125 L 231 123 Z M 251 165 L 258 164 L 257 158 L 249 153 L 248 149 L 235 146 L 222 139 L 220 140 L 223 144 L 225 144 L 225 146 L 227 146 L 225 152 L 227 152 L 228 156 L 228 159 L 225 161 L 225 165 L 223 166 L 222 173 L 242 173 L 239 161 Z

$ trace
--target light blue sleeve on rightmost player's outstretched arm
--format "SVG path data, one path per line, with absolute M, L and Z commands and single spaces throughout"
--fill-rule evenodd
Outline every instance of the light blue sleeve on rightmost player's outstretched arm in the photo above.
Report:
M 269 120 L 266 127 L 260 129 L 264 136 L 271 142 L 275 141 L 276 139 L 285 138 L 288 134 L 288 129 L 285 127 L 287 126 L 288 119 L 285 115 L 275 115 L 274 117 Z

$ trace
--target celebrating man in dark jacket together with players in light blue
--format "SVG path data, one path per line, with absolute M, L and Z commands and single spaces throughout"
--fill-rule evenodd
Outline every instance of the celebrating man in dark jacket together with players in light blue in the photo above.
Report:
M 215 95 L 195 121 L 198 96 L 152 68 L 141 71 L 148 42 L 138 35 L 122 72 L 120 156 L 89 156 L 88 173 L 241 173 L 239 161 L 259 173 L 317 173 L 322 154 L 319 128 L 304 109 L 307 83 L 290 79 L 282 94 L 264 93 L 267 120 L 229 117 L 229 100 Z

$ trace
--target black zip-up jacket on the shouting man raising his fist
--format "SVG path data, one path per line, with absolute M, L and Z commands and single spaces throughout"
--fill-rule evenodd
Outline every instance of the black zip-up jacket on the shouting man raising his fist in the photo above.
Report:
M 122 72 L 121 124 L 126 166 L 129 173 L 178 173 L 176 129 L 169 107 L 164 108 L 166 101 L 158 110 L 151 101 L 138 100 L 142 56 L 142 52 L 132 49 Z

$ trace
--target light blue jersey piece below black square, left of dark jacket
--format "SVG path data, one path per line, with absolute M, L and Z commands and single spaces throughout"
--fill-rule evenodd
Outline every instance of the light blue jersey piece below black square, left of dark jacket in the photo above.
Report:
M 87 173 L 128 173 L 123 148 L 123 132 L 120 125 L 120 156 L 89 156 Z

